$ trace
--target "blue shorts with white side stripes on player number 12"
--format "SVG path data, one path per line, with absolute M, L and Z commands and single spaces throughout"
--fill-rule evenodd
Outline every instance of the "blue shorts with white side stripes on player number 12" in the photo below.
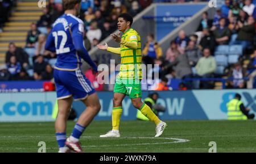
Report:
M 80 69 L 75 71 L 54 69 L 54 80 L 57 99 L 73 96 L 75 100 L 82 100 L 95 92 L 90 81 Z

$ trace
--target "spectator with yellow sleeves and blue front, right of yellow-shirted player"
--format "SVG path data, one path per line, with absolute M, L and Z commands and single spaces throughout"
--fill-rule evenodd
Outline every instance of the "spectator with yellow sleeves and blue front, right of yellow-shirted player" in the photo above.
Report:
M 154 40 L 154 35 L 150 34 L 147 36 L 147 43 L 144 47 L 143 51 L 143 62 L 144 64 L 154 64 L 154 60 L 156 58 L 160 58 L 163 55 L 162 48 L 160 45 Z

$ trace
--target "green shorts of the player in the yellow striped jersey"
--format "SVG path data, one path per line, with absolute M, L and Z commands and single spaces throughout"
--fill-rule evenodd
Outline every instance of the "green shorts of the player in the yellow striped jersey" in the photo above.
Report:
M 140 79 L 115 79 L 114 93 L 128 95 L 131 99 L 141 98 L 141 80 Z

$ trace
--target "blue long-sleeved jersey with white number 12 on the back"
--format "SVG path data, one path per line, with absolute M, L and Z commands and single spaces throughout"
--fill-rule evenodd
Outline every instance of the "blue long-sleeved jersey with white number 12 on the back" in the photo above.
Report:
M 84 22 L 72 14 L 64 14 L 53 23 L 46 49 L 57 54 L 55 69 L 77 70 L 83 58 L 97 71 L 97 66 L 84 48 L 83 32 Z

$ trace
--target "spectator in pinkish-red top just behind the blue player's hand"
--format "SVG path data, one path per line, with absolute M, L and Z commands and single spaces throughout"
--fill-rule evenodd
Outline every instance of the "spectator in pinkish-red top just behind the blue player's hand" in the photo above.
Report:
M 97 61 L 94 61 L 98 65 Z M 102 91 L 104 89 L 104 81 L 98 81 L 98 73 L 94 72 L 92 68 L 85 72 L 85 77 L 89 79 L 96 91 Z

